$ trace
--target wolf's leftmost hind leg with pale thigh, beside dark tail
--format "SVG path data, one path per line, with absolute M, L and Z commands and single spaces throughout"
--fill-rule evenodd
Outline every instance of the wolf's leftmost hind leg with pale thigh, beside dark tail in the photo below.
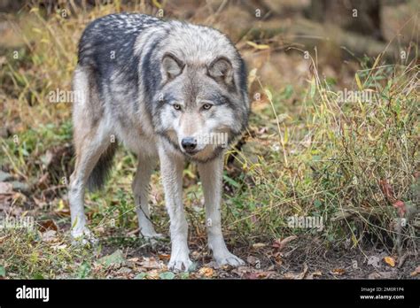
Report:
M 103 117 L 104 110 L 99 104 L 97 89 L 91 86 L 92 76 L 87 69 L 78 67 L 74 74 L 74 90 L 81 95 L 76 96 L 74 102 L 74 150 L 76 162 L 74 173 L 70 176 L 68 199 L 70 204 L 72 229 L 74 238 L 92 238 L 86 227 L 84 215 L 84 192 L 89 176 L 94 168 L 104 171 L 104 159 L 101 156 L 108 153 L 107 149 L 114 149 L 111 143 L 109 128 Z M 109 157 L 109 155 L 105 155 Z M 98 163 L 99 162 L 99 163 Z M 97 166 L 98 165 L 98 166 Z M 97 174 L 97 173 L 95 173 Z M 105 172 L 99 172 L 105 174 Z M 91 179 L 90 179 L 91 180 Z M 97 179 L 96 179 L 97 180 Z M 101 182 L 101 181 L 95 181 Z

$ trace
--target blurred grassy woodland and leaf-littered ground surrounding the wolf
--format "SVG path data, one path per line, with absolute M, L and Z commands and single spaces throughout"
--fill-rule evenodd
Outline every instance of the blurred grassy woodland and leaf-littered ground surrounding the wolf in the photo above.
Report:
M 168 242 L 138 239 L 136 158 L 122 147 L 105 190 L 87 194 L 99 247 L 72 246 L 72 106 L 49 96 L 71 91 L 82 29 L 113 12 L 215 27 L 245 58 L 253 114 L 226 158 L 223 232 L 246 266 L 212 263 L 203 194 L 188 165 L 198 270 L 167 272 Z M 416 0 L 0 0 L 0 218 L 36 222 L 31 232 L 0 229 L 0 277 L 416 277 L 419 13 Z M 167 234 L 159 173 L 151 204 Z M 322 218 L 323 229 L 291 227 L 292 216 Z

